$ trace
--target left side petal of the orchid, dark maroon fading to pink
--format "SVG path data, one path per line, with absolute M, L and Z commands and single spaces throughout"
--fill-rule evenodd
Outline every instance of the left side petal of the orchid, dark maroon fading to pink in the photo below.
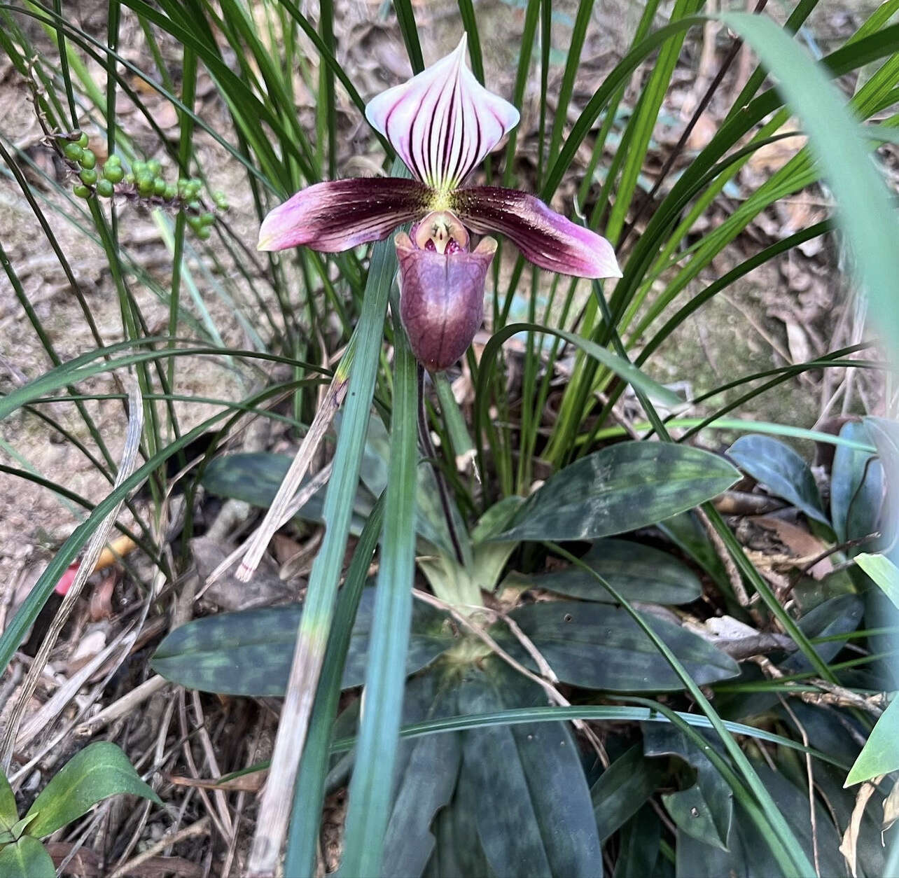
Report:
M 415 180 L 365 177 L 316 183 L 274 208 L 259 229 L 260 250 L 306 244 L 340 253 L 386 238 L 428 210 L 432 191 Z

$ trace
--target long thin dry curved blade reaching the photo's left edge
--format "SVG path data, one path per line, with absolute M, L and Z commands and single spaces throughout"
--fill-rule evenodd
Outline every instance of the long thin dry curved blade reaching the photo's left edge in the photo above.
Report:
M 121 455 L 119 473 L 116 475 L 115 483 L 112 486 L 113 491 L 119 488 L 121 483 L 123 483 L 134 471 L 135 464 L 138 460 L 140 434 L 144 426 L 143 399 L 140 395 L 138 383 L 134 380 L 130 382 L 128 399 L 128 431 L 125 435 L 125 448 Z M 31 669 L 28 671 L 28 676 L 25 678 L 18 700 L 13 707 L 13 713 L 10 716 L 9 724 L 6 726 L 4 732 L 3 743 L 0 745 L 0 767 L 7 773 L 9 772 L 9 765 L 13 758 L 15 739 L 19 731 L 19 723 L 22 722 L 22 714 L 24 713 L 25 705 L 31 700 L 31 696 L 34 694 L 35 688 L 37 688 L 40 673 L 47 664 L 50 651 L 56 644 L 59 632 L 62 631 L 63 625 L 66 624 L 72 609 L 75 608 L 75 602 L 85 586 L 87 577 L 93 572 L 93 568 L 97 563 L 97 558 L 100 557 L 103 546 L 106 545 L 110 531 L 123 502 L 124 498 L 116 503 L 106 518 L 103 519 L 100 527 L 94 531 L 93 537 L 91 537 L 90 542 L 87 544 L 87 551 L 81 559 L 81 563 L 78 565 L 78 572 L 76 573 L 75 580 L 69 587 L 66 597 L 62 599 L 57 615 L 53 617 L 53 621 L 50 624 L 47 636 L 44 638 L 43 643 L 40 644 L 40 650 L 34 657 L 34 661 L 31 662 Z

